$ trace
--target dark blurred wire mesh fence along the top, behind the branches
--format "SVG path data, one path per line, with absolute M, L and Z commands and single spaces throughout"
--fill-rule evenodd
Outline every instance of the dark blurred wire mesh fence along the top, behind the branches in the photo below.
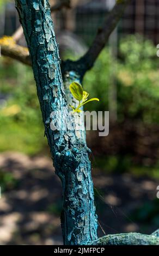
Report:
M 54 1 L 55 2 L 55 1 Z M 59 1 L 57 1 L 59 2 Z M 56 32 L 69 31 L 90 45 L 97 29 L 109 13 L 110 0 L 72 0 L 72 8 L 63 8 L 53 14 Z M 113 7 L 113 6 L 112 6 Z M 11 35 L 19 26 L 14 3 L 1 10 L 0 35 Z M 145 38 L 159 42 L 159 0 L 132 0 L 118 26 L 118 35 L 139 33 Z

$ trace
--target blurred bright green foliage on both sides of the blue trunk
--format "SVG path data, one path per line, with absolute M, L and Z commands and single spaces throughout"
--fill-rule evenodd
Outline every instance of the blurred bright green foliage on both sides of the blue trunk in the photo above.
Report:
M 91 97 L 100 99 L 97 103 L 90 102 L 86 110 L 108 111 L 110 74 L 111 69 L 115 69 L 116 125 L 126 120 L 133 123 L 139 121 L 143 125 L 159 125 L 155 46 L 149 40 L 131 35 L 119 42 L 118 54 L 119 58 L 114 62 L 109 47 L 106 47 L 94 68 L 85 75 L 84 89 Z M 1 57 L 0 61 L 0 150 L 21 151 L 29 155 L 44 153 L 47 142 L 41 136 L 44 127 L 32 70 L 8 58 Z M 118 162 L 118 157 L 115 161 Z M 115 162 L 113 166 L 111 169 L 115 169 Z

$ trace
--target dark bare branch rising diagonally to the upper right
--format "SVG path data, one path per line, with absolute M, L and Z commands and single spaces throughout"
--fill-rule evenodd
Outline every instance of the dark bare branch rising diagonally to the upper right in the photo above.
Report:
M 114 28 L 117 26 L 121 16 L 124 13 L 126 6 L 130 3 L 131 0 L 118 0 L 114 8 L 107 15 L 103 26 L 97 32 L 97 35 L 93 41 L 93 44 L 90 46 L 87 53 L 84 54 L 82 58 L 76 62 L 68 60 L 64 65 L 69 67 L 69 70 L 81 70 L 81 75 L 83 76 L 85 72 L 91 69 L 95 63 L 95 60 L 99 56 L 103 47 L 105 47 L 109 35 L 113 32 Z M 65 68 L 64 68 L 65 69 Z

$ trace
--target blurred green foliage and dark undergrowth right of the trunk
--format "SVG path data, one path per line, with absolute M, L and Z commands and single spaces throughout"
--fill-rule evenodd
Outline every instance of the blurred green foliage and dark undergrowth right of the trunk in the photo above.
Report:
M 155 144 L 155 139 L 157 142 L 159 84 L 154 44 L 150 40 L 144 40 L 142 36 L 129 35 L 120 40 L 115 62 L 109 48 L 103 50 L 94 68 L 84 78 L 85 90 L 100 99 L 97 103 L 90 102 L 87 110 L 109 109 L 112 69 L 115 70 L 113 74 L 117 87 L 117 121 L 110 124 L 107 139 L 102 138 L 99 142 L 100 146 L 95 150 L 97 156 L 94 158 L 94 166 L 106 173 L 129 172 L 135 176 L 158 178 L 158 145 Z M 108 138 L 111 134 L 113 137 L 116 132 L 121 141 L 118 150 L 110 154 L 111 147 L 114 144 L 117 147 L 118 141 L 114 139 L 110 147 L 106 150 L 105 147 Z M 151 153 L 148 153 L 148 148 Z

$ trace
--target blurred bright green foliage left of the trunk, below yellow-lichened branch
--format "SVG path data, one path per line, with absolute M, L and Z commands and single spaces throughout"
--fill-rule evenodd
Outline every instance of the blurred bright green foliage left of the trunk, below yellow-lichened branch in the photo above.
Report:
M 8 58 L 0 65 L 0 150 L 41 153 L 46 140 L 32 70 Z

